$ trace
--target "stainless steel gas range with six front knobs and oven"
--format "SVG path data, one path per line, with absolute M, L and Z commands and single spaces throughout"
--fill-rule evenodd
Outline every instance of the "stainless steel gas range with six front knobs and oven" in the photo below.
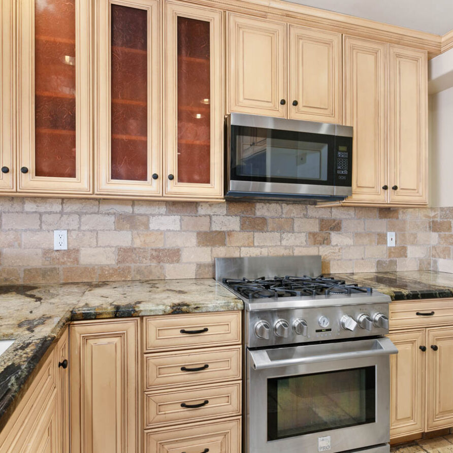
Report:
M 390 297 L 319 276 L 320 256 L 215 266 L 245 307 L 244 451 L 389 452 Z

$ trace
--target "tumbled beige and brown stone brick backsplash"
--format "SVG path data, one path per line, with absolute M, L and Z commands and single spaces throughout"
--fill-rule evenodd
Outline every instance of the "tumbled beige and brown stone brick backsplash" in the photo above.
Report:
M 1 283 L 213 277 L 217 256 L 293 254 L 320 254 L 324 273 L 453 272 L 453 208 L 0 198 L 0 211 Z

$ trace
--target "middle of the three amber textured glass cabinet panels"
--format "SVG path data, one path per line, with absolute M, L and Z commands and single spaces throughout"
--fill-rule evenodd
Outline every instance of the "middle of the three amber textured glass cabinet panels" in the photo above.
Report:
M 148 177 L 148 26 L 145 10 L 112 5 L 111 178 Z

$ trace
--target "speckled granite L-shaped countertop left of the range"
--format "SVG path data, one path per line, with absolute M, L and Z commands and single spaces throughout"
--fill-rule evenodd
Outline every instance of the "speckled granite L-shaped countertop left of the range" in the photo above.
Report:
M 0 340 L 16 339 L 0 355 L 0 429 L 68 321 L 242 309 L 211 278 L 0 286 Z

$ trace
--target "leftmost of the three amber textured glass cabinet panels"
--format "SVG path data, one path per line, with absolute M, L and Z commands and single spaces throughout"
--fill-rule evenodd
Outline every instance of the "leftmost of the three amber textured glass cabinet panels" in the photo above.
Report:
M 35 174 L 76 177 L 75 0 L 35 1 Z

